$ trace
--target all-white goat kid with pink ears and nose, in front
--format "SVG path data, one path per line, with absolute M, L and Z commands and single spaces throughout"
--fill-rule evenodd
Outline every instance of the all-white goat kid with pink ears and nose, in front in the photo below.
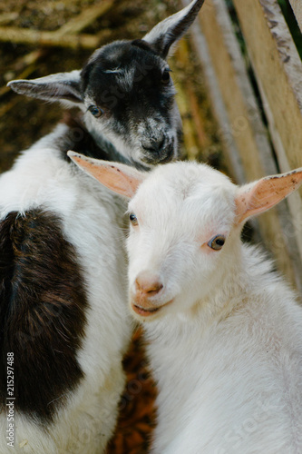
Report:
M 238 187 L 205 164 L 147 175 L 73 160 L 132 198 L 130 302 L 159 388 L 152 452 L 301 453 L 302 309 L 240 232 L 302 169 Z

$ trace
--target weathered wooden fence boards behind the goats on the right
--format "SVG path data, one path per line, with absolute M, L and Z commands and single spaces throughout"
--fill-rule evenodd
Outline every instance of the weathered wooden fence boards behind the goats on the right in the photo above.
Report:
M 183 0 L 188 4 L 187 0 Z M 290 0 L 302 29 L 302 1 Z M 192 32 L 239 183 L 302 167 L 302 63 L 277 0 L 206 0 Z M 280 271 L 302 290 L 302 191 L 258 218 Z

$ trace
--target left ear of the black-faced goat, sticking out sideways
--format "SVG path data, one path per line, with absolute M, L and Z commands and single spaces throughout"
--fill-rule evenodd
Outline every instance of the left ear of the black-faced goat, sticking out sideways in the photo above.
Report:
M 50 74 L 32 80 L 15 80 L 7 85 L 18 94 L 26 94 L 45 101 L 63 101 L 65 104 L 83 103 L 81 95 L 81 71 Z

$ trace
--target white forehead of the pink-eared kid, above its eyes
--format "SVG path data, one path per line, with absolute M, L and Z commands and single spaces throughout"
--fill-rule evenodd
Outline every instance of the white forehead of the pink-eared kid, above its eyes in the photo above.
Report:
M 171 163 L 153 171 L 141 184 L 130 209 L 142 215 L 175 220 L 216 219 L 226 226 L 234 218 L 236 185 L 205 164 Z

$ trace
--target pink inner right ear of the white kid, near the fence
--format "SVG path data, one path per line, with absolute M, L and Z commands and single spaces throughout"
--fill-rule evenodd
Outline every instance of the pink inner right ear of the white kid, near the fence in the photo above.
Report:
M 302 183 L 302 168 L 288 173 L 272 175 L 239 189 L 235 199 L 237 222 L 244 222 L 250 216 L 266 212 L 277 205 Z

